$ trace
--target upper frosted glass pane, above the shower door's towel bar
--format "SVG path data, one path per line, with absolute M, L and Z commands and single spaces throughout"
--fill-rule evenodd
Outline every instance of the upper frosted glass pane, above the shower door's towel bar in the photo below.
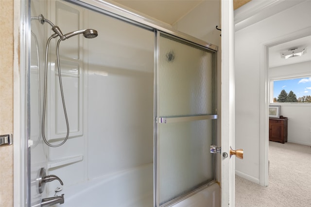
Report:
M 159 116 L 212 114 L 214 52 L 160 37 Z

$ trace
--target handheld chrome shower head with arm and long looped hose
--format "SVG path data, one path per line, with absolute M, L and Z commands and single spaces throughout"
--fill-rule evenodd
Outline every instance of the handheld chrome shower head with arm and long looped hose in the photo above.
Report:
M 69 32 L 67 34 L 63 34 L 62 31 L 59 29 L 58 26 L 55 26 L 49 19 L 44 18 L 43 15 L 39 16 L 32 16 L 31 19 L 37 19 L 40 21 L 41 24 L 44 24 L 45 22 L 49 23 L 52 27 L 52 31 L 55 32 L 54 34 L 49 37 L 47 41 L 47 46 L 45 50 L 45 66 L 44 66 L 44 96 L 43 96 L 43 115 L 42 115 L 42 138 L 43 141 L 51 147 L 58 147 L 66 143 L 68 137 L 69 137 L 69 122 L 68 122 L 68 116 L 65 106 L 65 99 L 64 99 L 64 93 L 63 93 L 63 85 L 62 85 L 62 77 L 61 77 L 61 71 L 60 71 L 60 63 L 59 63 L 59 44 L 63 40 L 67 40 L 68 38 L 75 36 L 77 34 L 83 34 L 86 38 L 95 38 L 97 37 L 98 33 L 96 30 L 93 29 L 84 29 L 84 30 L 77 30 L 74 32 Z M 64 115 L 66 119 L 66 125 L 67 125 L 67 134 L 62 143 L 59 144 L 51 144 L 48 142 L 48 140 L 45 137 L 45 115 L 46 115 L 46 99 L 47 99 L 47 65 L 48 65 L 48 51 L 49 51 L 49 44 L 52 38 L 60 37 L 57 41 L 57 47 L 56 47 L 56 55 L 57 55 L 57 68 L 58 68 L 58 78 L 59 78 L 59 86 L 60 86 L 60 92 L 62 97 L 62 103 L 63 103 L 63 109 L 64 109 Z

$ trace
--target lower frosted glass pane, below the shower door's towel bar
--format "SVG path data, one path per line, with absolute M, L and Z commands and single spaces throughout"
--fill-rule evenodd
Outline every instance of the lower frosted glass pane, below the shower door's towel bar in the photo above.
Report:
M 159 127 L 160 204 L 215 179 L 209 152 L 213 120 L 161 124 Z

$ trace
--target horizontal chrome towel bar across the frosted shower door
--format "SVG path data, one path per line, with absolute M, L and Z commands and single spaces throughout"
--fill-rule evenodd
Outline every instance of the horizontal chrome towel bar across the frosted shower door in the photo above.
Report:
M 195 115 L 195 116 L 174 116 L 174 117 L 157 117 L 156 123 L 158 124 L 168 124 L 175 122 L 189 122 L 189 121 L 200 121 L 200 120 L 210 120 L 217 119 L 218 115 Z

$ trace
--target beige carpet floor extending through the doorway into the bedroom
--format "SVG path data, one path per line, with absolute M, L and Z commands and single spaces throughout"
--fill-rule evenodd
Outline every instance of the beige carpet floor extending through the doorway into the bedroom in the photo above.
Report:
M 269 143 L 269 186 L 236 176 L 236 207 L 311 207 L 311 147 Z

